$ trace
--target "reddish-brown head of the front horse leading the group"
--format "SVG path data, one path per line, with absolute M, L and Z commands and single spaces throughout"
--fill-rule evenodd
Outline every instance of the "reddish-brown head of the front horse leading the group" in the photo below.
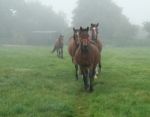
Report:
M 81 50 L 87 52 L 90 43 L 89 27 L 87 28 L 80 27 L 79 37 L 80 37 Z

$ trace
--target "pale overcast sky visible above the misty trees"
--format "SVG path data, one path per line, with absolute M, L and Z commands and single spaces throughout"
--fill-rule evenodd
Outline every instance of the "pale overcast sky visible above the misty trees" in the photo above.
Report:
M 29 0 L 30 1 L 30 0 Z M 77 6 L 77 0 L 39 0 L 45 5 L 52 6 L 56 12 L 63 11 L 71 21 L 72 11 Z M 123 14 L 133 24 L 141 25 L 144 21 L 150 21 L 150 0 L 113 0 L 123 8 Z

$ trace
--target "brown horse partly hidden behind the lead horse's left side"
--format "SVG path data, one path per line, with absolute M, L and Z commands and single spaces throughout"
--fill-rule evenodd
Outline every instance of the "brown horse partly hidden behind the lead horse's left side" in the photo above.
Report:
M 68 43 L 68 53 L 70 54 L 71 58 L 72 58 L 72 62 L 74 63 L 74 55 L 75 52 L 79 46 L 79 29 L 75 29 L 73 28 L 73 36 L 69 39 L 69 43 Z M 75 63 L 74 63 L 75 64 Z M 76 69 L 76 79 L 78 80 L 78 65 L 75 64 L 75 69 Z

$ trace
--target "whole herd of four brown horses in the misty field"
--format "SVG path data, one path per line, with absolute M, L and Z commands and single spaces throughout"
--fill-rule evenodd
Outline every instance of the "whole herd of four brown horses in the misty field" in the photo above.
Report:
M 86 91 L 93 91 L 93 81 L 101 71 L 102 42 L 98 36 L 99 24 L 91 24 L 90 27 L 73 28 L 73 36 L 68 42 L 68 53 L 75 66 L 75 75 L 83 76 Z M 57 51 L 58 57 L 63 58 L 63 36 L 57 39 L 52 52 Z

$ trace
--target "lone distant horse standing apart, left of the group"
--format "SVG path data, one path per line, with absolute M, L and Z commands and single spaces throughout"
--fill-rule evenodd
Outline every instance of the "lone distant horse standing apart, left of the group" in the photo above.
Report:
M 57 56 L 63 58 L 63 38 L 64 36 L 60 35 L 56 40 L 52 53 L 57 51 Z

